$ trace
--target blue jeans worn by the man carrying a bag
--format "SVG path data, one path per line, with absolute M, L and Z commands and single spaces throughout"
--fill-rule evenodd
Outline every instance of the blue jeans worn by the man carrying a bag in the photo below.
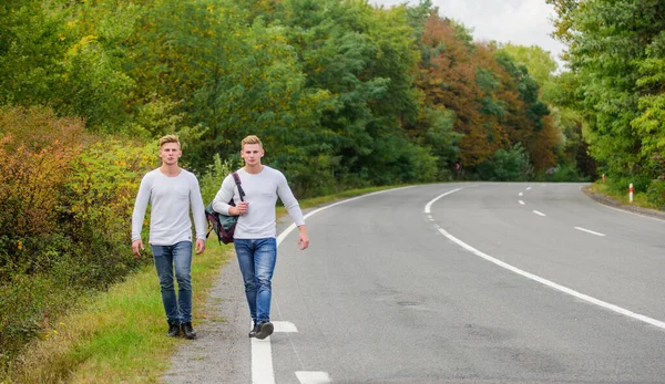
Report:
M 277 239 L 234 239 L 249 314 L 255 322 L 270 320 L 272 280 L 277 261 Z

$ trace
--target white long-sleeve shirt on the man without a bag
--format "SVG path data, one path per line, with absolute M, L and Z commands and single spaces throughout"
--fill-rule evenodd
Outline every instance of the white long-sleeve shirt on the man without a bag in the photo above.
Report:
M 205 208 L 194 174 L 181 169 L 177 176 L 168 177 L 157 168 L 143 176 L 132 215 L 132 241 L 141 239 L 149 203 L 151 245 L 173 246 L 181 241 L 192 241 L 190 206 L 196 238 L 205 240 Z

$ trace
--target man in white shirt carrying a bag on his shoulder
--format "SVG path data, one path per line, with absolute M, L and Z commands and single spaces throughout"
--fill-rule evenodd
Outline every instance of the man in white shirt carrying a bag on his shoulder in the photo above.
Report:
M 265 339 L 274 326 L 270 323 L 272 279 L 277 261 L 277 227 L 275 205 L 277 197 L 298 227 L 298 246 L 301 250 L 309 246 L 309 237 L 298 200 L 294 197 L 282 172 L 260 164 L 264 156 L 260 139 L 254 135 L 242 142 L 241 156 L 245 166 L 237 174 L 243 188 L 241 201 L 238 188 L 232 175 L 226 176 L 213 200 L 213 209 L 231 216 L 239 216 L 234 232 L 234 246 L 249 314 L 254 326 L 249 338 Z M 231 206 L 231 199 L 236 206 Z

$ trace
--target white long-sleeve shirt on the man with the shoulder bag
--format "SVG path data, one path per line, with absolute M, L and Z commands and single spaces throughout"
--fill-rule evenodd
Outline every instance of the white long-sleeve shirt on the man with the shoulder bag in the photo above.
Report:
M 248 203 L 247 212 L 238 217 L 234 237 L 236 239 L 265 239 L 277 236 L 275 222 L 275 205 L 277 197 L 284 204 L 288 215 L 296 226 L 305 225 L 300 205 L 294 196 L 284 174 L 268 166 L 256 174 L 248 174 L 238 169 L 241 184 L 245 191 L 245 201 Z M 231 198 L 235 204 L 241 203 L 241 195 L 235 180 L 228 175 L 222 181 L 222 187 L 213 200 L 213 209 L 219 214 L 228 215 Z

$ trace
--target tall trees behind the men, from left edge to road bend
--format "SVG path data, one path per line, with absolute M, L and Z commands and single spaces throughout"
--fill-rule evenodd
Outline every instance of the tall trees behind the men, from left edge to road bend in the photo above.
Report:
M 88 132 L 143 142 L 176 132 L 194 170 L 236 154 L 250 133 L 303 197 L 446 180 L 456 164 L 482 179 L 577 165 L 581 141 L 541 97 L 552 58 L 530 48 L 550 70 L 538 80 L 430 1 L 19 0 L 3 9 L 0 104 L 47 105 L 84 118 Z M 528 162 L 498 176 L 498 152 Z

